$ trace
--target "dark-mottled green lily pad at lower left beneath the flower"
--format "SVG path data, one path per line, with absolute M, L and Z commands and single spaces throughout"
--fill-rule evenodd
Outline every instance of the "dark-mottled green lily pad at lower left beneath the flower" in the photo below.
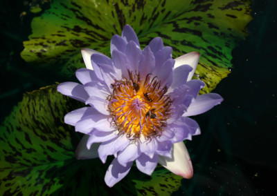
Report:
M 170 195 L 178 190 L 182 178 L 161 166 L 151 177 L 134 166 L 108 188 L 109 163 L 75 159 L 82 135 L 64 124 L 64 115 L 82 104 L 56 88 L 26 93 L 0 127 L 0 195 Z

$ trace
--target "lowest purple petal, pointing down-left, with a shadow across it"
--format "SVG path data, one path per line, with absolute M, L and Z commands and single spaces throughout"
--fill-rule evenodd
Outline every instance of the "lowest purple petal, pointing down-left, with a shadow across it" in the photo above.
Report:
M 109 168 L 105 175 L 105 182 L 107 186 L 112 187 L 114 186 L 114 184 L 118 183 L 121 179 L 123 179 L 123 177 L 125 177 L 129 173 L 132 164 L 133 163 L 131 161 L 127 163 L 126 166 L 122 166 L 118 163 L 117 159 L 114 159 L 109 165 Z

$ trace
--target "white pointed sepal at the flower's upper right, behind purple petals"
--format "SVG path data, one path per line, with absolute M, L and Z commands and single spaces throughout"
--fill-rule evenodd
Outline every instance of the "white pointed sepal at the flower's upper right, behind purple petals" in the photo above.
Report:
M 193 68 L 193 70 L 188 75 L 188 81 L 193 78 L 193 74 L 195 73 L 198 60 L 200 57 L 199 52 L 190 52 L 186 55 L 182 55 L 181 57 L 178 57 L 175 59 L 175 66 L 174 68 L 177 68 L 182 65 L 188 65 Z

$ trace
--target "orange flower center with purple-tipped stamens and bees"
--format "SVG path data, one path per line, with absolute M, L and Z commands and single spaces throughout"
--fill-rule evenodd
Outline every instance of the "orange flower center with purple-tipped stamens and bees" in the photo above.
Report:
M 107 98 L 114 126 L 130 139 L 159 136 L 170 117 L 171 99 L 165 95 L 168 88 L 161 88 L 157 77 L 141 77 L 129 72 L 129 79 L 116 80 L 111 84 L 113 93 Z

